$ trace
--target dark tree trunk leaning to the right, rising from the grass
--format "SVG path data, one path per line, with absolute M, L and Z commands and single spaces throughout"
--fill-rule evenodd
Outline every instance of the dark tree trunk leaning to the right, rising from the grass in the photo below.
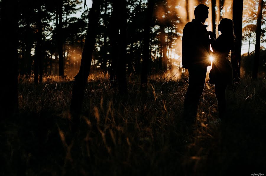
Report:
M 79 73 L 74 77 L 74 85 L 72 88 L 72 97 L 70 111 L 72 114 L 80 114 L 82 110 L 82 101 L 85 86 L 90 73 L 90 65 L 92 54 L 95 46 L 95 38 L 98 29 L 98 21 L 100 15 L 100 0 L 93 0 L 92 7 L 89 12 L 89 24 L 86 34 L 86 41 L 82 51 L 81 64 Z

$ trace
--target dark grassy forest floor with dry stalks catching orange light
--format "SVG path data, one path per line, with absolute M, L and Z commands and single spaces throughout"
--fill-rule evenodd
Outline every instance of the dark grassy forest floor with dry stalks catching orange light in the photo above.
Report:
M 105 75 L 90 75 L 75 133 L 72 85 L 19 78 L 19 113 L 1 125 L 0 175 L 266 174 L 265 78 L 227 88 L 227 120 L 217 128 L 209 125 L 218 113 L 206 83 L 190 136 L 182 120 L 187 78 L 151 76 L 144 96 L 131 75 L 121 97 Z

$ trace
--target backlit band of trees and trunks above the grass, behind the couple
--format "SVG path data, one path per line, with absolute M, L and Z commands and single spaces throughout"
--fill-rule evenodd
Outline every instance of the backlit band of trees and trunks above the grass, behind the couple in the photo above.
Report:
M 257 78 L 259 44 L 265 41 L 262 14 L 266 1 L 93 0 L 90 9 L 84 3 L 0 1 L 1 88 L 5 90 L 1 94 L 3 101 L 7 99 L 3 109 L 17 107 L 18 74 L 32 76 L 35 85 L 42 83 L 44 75 L 75 76 L 71 109 L 79 112 L 91 70 L 108 72 L 111 86 L 121 94 L 127 91 L 130 73 L 140 75 L 143 92 L 149 74 L 183 73 L 182 30 L 200 3 L 210 7 L 207 23 L 216 35 L 220 19 L 233 19 L 237 39 L 231 53 L 234 78 L 240 77 L 242 38 L 256 43 L 253 78 Z M 83 11 L 81 17 L 75 16 L 78 11 Z

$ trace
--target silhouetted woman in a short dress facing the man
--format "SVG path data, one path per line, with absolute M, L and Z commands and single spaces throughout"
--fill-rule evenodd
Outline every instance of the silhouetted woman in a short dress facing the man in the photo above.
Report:
M 219 118 L 223 119 L 226 110 L 226 87 L 233 82 L 232 65 L 228 59 L 229 52 L 233 50 L 235 44 L 232 20 L 227 18 L 222 19 L 218 25 L 218 31 L 221 34 L 216 40 L 211 35 L 210 43 L 213 48 L 213 64 L 210 70 L 209 83 L 215 85 Z

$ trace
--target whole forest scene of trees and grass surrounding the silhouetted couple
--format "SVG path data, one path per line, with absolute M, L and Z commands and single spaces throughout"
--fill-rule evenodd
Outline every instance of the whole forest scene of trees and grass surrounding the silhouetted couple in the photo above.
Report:
M 218 112 L 206 83 L 187 136 L 182 30 L 197 4 L 216 36 L 233 20 L 237 46 L 229 120 L 209 126 Z M 0 0 L 1 175 L 265 174 L 265 6 Z

